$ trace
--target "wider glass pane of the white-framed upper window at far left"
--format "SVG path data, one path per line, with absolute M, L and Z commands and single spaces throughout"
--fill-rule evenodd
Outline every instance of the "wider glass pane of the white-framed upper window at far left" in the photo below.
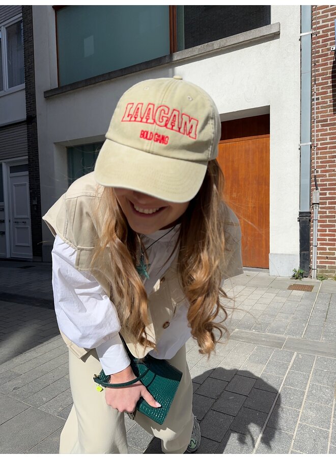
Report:
M 6 33 L 8 87 L 13 88 L 24 83 L 22 21 L 9 25 Z

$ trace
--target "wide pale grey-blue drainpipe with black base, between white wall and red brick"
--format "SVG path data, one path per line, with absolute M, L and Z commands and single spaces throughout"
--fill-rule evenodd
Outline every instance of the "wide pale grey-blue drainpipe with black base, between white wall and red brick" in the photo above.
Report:
M 312 7 L 301 6 L 301 118 L 300 118 L 300 268 L 310 275 L 310 177 L 311 177 L 311 84 Z

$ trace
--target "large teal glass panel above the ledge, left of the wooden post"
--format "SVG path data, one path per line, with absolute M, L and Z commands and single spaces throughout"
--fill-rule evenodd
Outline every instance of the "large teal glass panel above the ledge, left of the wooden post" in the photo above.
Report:
M 67 6 L 57 40 L 61 86 L 165 56 L 169 6 Z

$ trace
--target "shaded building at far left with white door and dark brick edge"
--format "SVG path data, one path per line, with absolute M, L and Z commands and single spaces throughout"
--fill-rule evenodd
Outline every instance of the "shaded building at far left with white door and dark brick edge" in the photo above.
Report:
M 1 6 L 0 37 L 0 257 L 41 260 L 32 8 Z

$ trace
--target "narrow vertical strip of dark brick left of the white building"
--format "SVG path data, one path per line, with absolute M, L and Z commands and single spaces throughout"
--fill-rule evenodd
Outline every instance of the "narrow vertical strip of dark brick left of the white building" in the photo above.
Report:
M 32 6 L 22 6 L 24 80 L 27 123 L 27 153 L 32 218 L 33 257 L 42 256 L 42 220 L 40 195 L 39 150 L 37 138 L 34 41 Z

